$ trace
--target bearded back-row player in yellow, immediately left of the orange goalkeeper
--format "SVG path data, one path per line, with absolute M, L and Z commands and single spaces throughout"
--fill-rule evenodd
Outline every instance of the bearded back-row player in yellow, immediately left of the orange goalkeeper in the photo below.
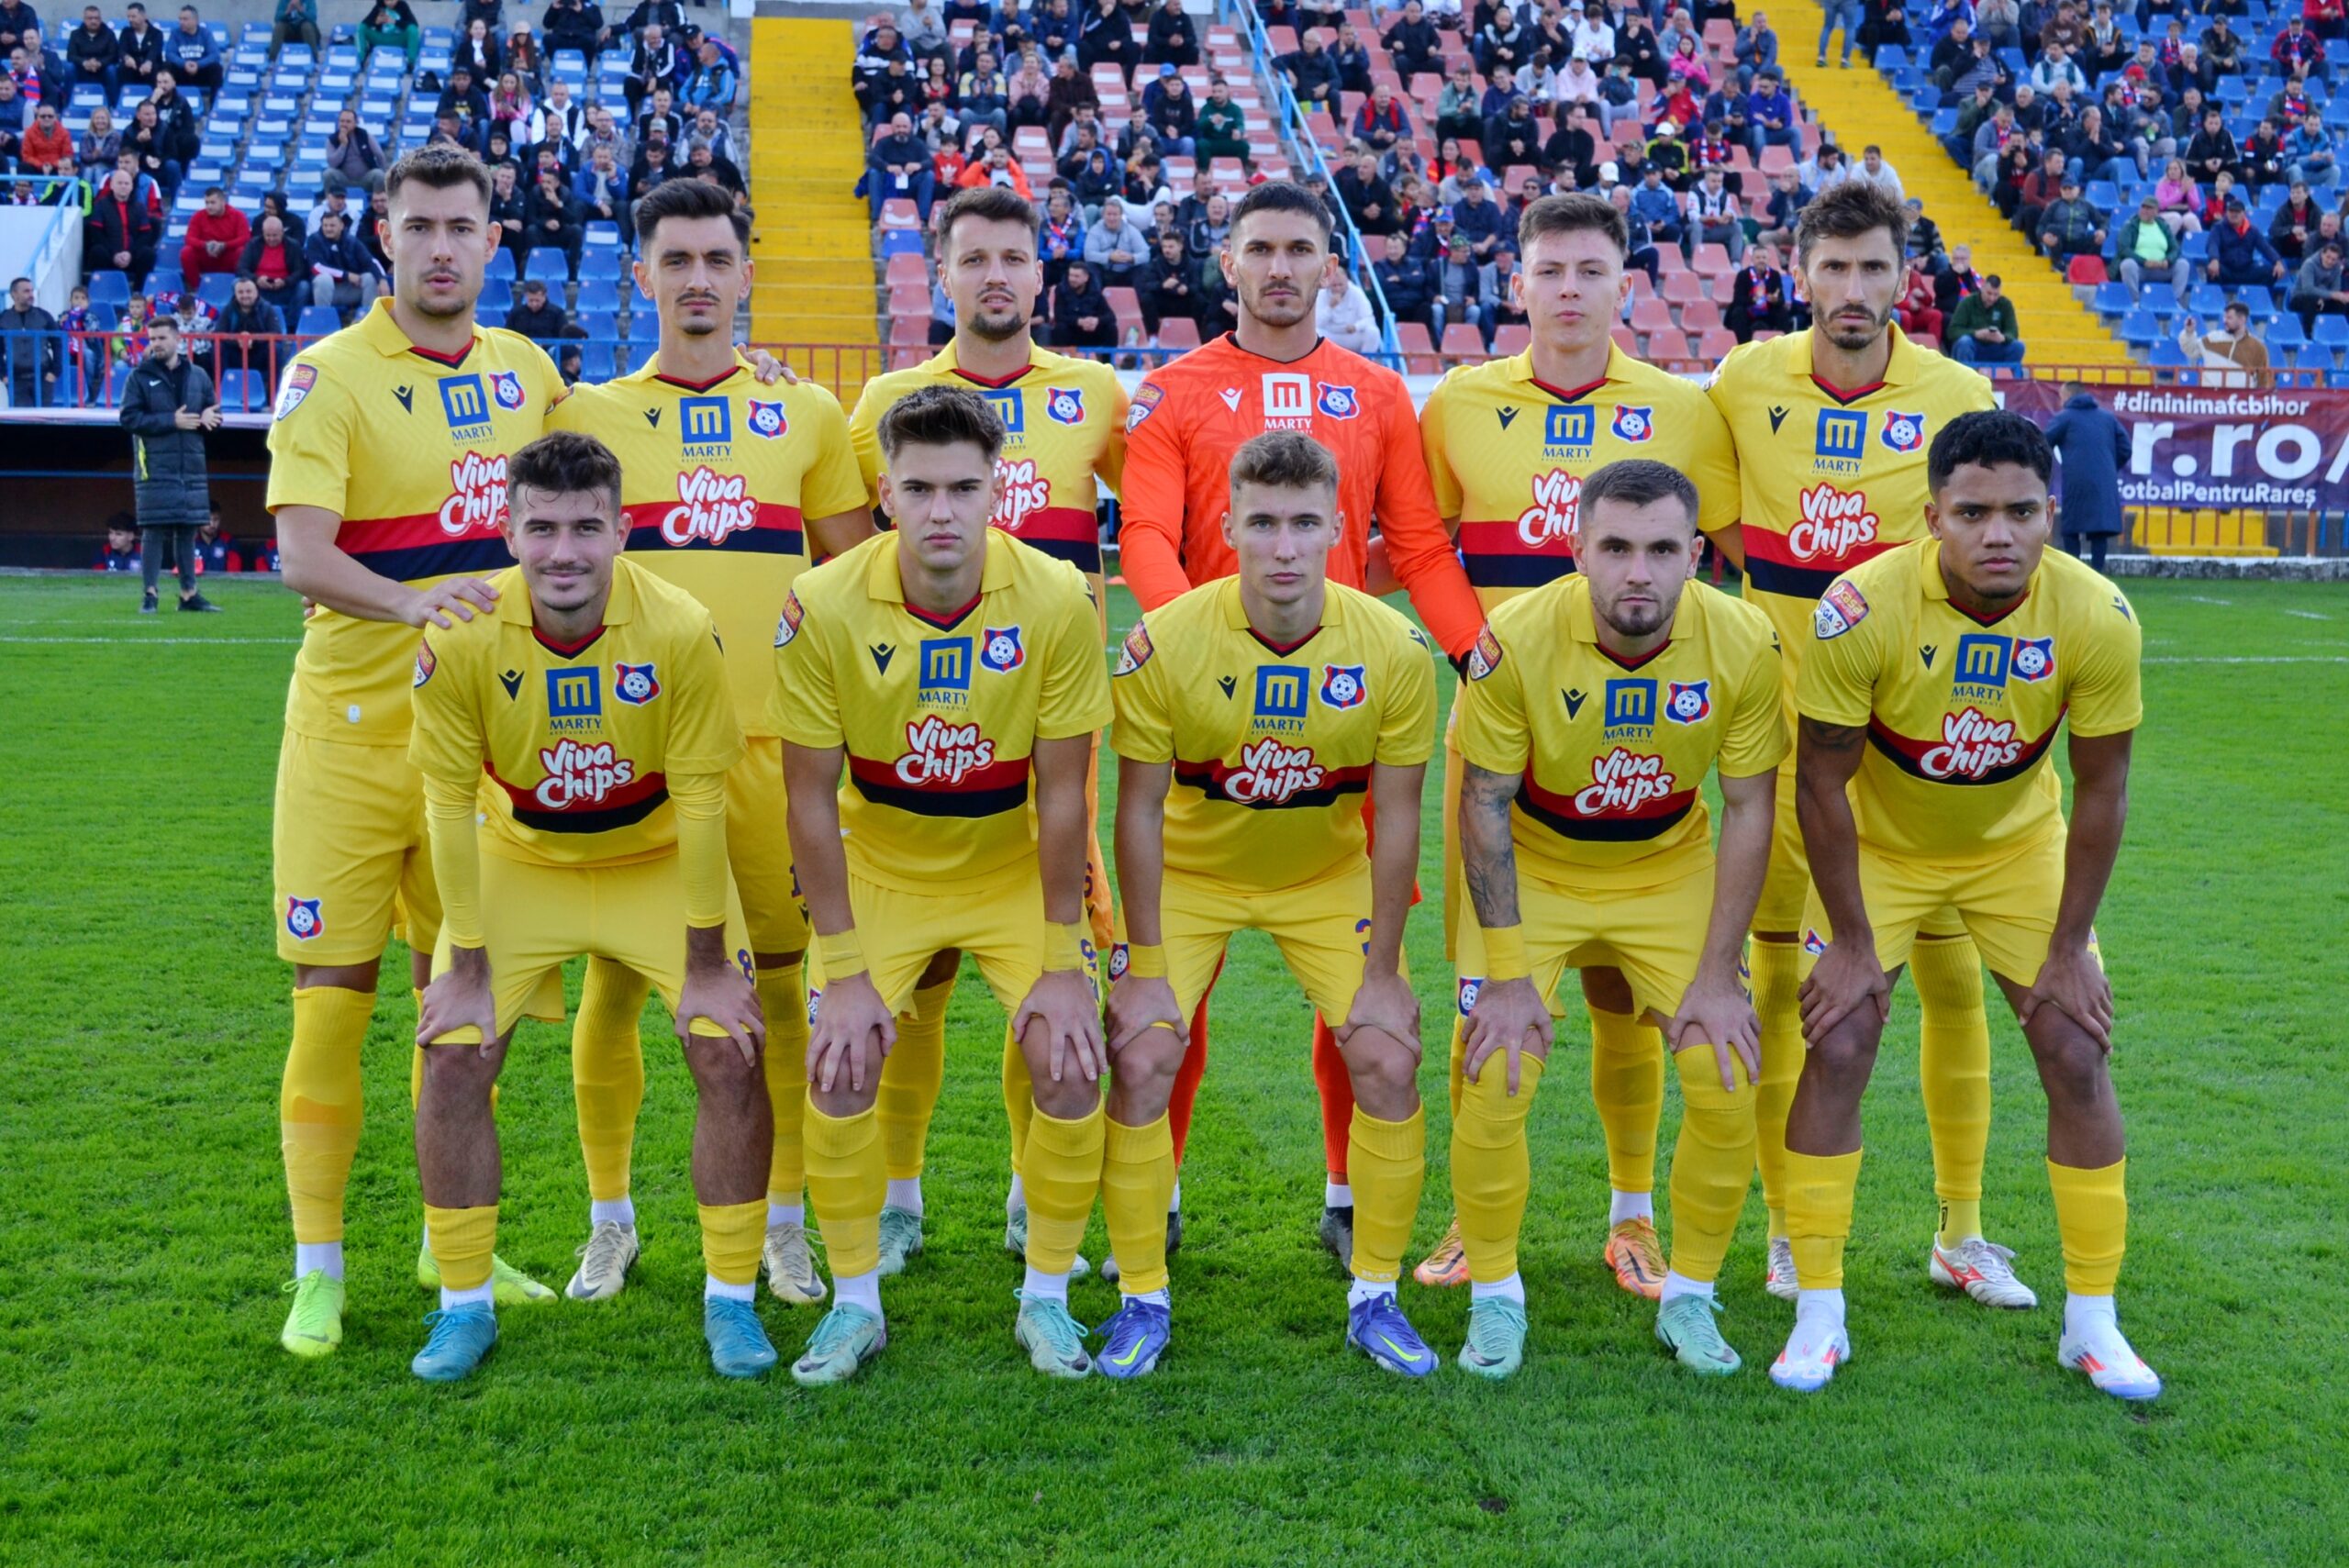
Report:
M 954 343 L 909 371 L 864 383 L 848 427 L 864 486 L 879 500 L 881 415 L 918 387 L 968 387 L 1003 420 L 996 528 L 1085 573 L 1099 610 L 1102 488 L 1118 488 L 1125 469 L 1125 387 L 1097 359 L 1069 359 L 1036 347 L 1029 322 L 1043 293 L 1036 207 L 1003 185 L 961 190 L 937 209 L 940 275 L 954 298 Z M 1095 761 L 1097 765 L 1097 761 Z M 1085 800 L 1099 791 L 1088 779 Z M 1109 941 L 1109 876 L 1099 833 L 1088 826 L 1085 913 L 1095 944 Z M 897 1045 L 881 1070 L 881 1145 L 888 1157 L 888 1204 L 881 1209 L 881 1272 L 895 1275 L 921 1251 L 921 1164 L 930 1113 L 947 1070 L 947 1002 L 954 998 L 958 953 L 940 953 L 914 986 L 914 1005 L 897 1019 Z M 1012 1124 L 1012 1192 L 1003 1232 L 1010 1251 L 1027 1251 L 1027 1199 L 1019 1143 L 1027 1129 L 1027 1061 L 1003 1042 L 1003 1103 Z M 1083 1272 L 1083 1268 L 1078 1268 Z

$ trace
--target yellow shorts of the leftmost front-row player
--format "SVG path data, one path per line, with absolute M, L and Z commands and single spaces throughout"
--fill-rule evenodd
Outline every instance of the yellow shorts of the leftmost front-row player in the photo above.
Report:
M 561 988 L 543 981 L 580 955 L 627 965 L 653 984 L 669 1012 L 686 984 L 686 880 L 677 854 L 625 866 L 543 866 L 482 854 L 482 946 L 489 951 L 489 988 L 498 1002 L 498 1033 L 519 1019 L 559 1023 Z M 728 890 L 726 951 L 752 976 L 749 934 L 742 904 Z M 449 939 L 432 948 L 432 976 L 449 969 Z M 552 1009 L 545 1009 L 547 998 Z M 714 1023 L 695 1023 L 695 1035 L 719 1035 Z M 451 1040 L 453 1042 L 453 1040 Z

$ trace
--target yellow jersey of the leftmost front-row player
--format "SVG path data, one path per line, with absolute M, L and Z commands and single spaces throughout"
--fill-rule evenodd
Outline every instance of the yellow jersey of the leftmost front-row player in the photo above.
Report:
M 677 847 L 669 775 L 721 775 L 742 756 L 709 610 L 630 556 L 613 563 L 604 627 L 561 648 L 531 622 L 510 566 L 498 610 L 416 648 L 409 761 L 482 779 L 482 847 L 543 866 L 613 866 Z

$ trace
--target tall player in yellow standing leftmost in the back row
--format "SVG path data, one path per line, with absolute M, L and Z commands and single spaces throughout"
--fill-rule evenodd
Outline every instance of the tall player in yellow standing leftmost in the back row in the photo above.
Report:
M 280 1343 L 301 1357 L 343 1340 L 343 1190 L 383 944 L 406 927 L 420 988 L 442 918 L 406 756 L 418 627 L 498 608 L 484 575 L 512 559 L 498 530 L 507 453 L 564 392 L 545 350 L 474 322 L 498 251 L 479 160 L 423 148 L 383 188 L 392 293 L 296 354 L 270 425 L 284 580 L 315 603 L 287 692 L 272 843 L 277 955 L 294 965 L 277 1108 L 294 1307 Z M 505 1303 L 554 1300 L 491 1265 Z M 418 1272 L 437 1284 L 430 1251 Z

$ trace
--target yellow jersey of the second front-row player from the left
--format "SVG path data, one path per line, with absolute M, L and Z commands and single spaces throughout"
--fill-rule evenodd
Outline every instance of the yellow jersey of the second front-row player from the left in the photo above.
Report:
M 951 620 L 904 601 L 897 535 L 806 573 L 775 627 L 770 730 L 841 746 L 848 866 L 904 892 L 996 880 L 1036 854 L 1029 756 L 1109 723 L 1083 575 L 987 530 L 980 596 Z

